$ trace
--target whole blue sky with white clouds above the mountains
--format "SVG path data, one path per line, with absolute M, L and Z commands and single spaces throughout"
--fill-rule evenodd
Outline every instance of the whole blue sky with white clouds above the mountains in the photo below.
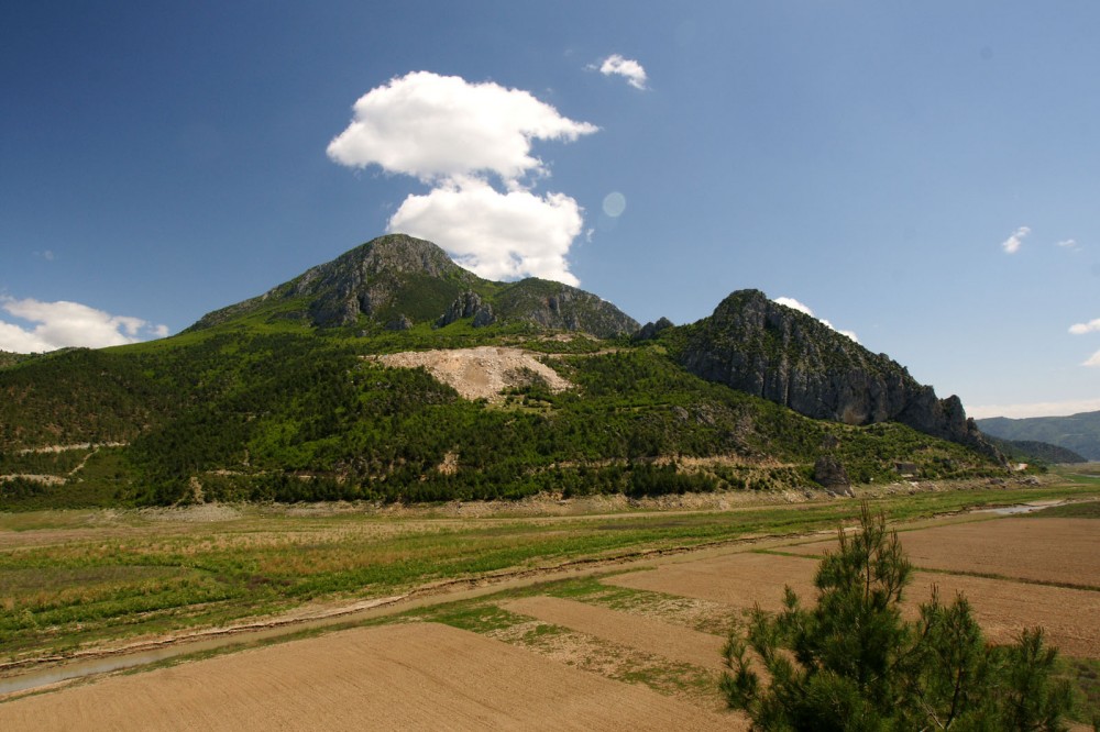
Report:
M 0 348 L 176 333 L 406 230 L 642 322 L 790 298 L 979 417 L 1100 409 L 1097 27 L 1088 1 L 3 3 Z

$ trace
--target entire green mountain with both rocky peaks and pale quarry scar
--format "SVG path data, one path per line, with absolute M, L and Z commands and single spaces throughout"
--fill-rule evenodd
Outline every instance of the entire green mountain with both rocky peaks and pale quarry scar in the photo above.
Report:
M 384 236 L 173 337 L 0 363 L 0 508 L 1004 474 L 957 400 L 769 302 L 639 329 L 583 290 Z

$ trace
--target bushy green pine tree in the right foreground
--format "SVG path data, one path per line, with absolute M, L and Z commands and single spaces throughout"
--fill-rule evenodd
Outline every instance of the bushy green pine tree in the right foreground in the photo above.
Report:
M 817 602 L 787 590 L 784 610 L 757 608 L 726 644 L 722 688 L 761 730 L 1060 730 L 1072 707 L 1043 631 L 990 646 L 959 596 L 933 592 L 920 620 L 901 618 L 912 567 L 886 520 L 865 504 L 860 532 L 814 578 Z M 749 648 L 767 668 L 767 686 Z

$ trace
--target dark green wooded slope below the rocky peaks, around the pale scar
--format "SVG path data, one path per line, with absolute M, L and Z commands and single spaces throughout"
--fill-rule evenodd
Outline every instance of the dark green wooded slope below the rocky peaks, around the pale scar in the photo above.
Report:
M 660 346 L 596 351 L 608 342 L 515 332 L 513 343 L 557 353 L 546 363 L 576 388 L 554 393 L 528 375 L 501 406 L 462 399 L 422 369 L 366 357 L 503 337 L 504 330 L 490 331 L 457 322 L 363 336 L 249 321 L 31 359 L 0 370 L 0 390 L 18 401 L 0 421 L 0 450 L 130 444 L 110 475 L 67 477 L 84 454 L 75 452 L 48 458 L 54 465 L 8 461 L 0 475 L 66 478 L 51 500 L 74 506 L 88 496 L 170 504 L 813 488 L 827 434 L 838 437 L 836 455 L 859 481 L 893 479 L 899 459 L 916 464 L 922 478 L 992 469 L 964 447 L 901 425 L 818 422 L 704 381 Z M 721 459 L 702 467 L 680 459 L 710 457 Z M 444 463 L 449 469 L 440 469 Z

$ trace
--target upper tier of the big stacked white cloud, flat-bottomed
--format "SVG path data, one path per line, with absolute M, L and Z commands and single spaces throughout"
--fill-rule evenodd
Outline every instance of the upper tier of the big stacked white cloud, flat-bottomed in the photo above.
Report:
M 377 165 L 425 182 L 493 173 L 514 185 L 544 174 L 535 140 L 571 142 L 598 130 L 558 113 L 530 92 L 414 71 L 360 97 L 348 129 L 329 143 L 334 162 Z

